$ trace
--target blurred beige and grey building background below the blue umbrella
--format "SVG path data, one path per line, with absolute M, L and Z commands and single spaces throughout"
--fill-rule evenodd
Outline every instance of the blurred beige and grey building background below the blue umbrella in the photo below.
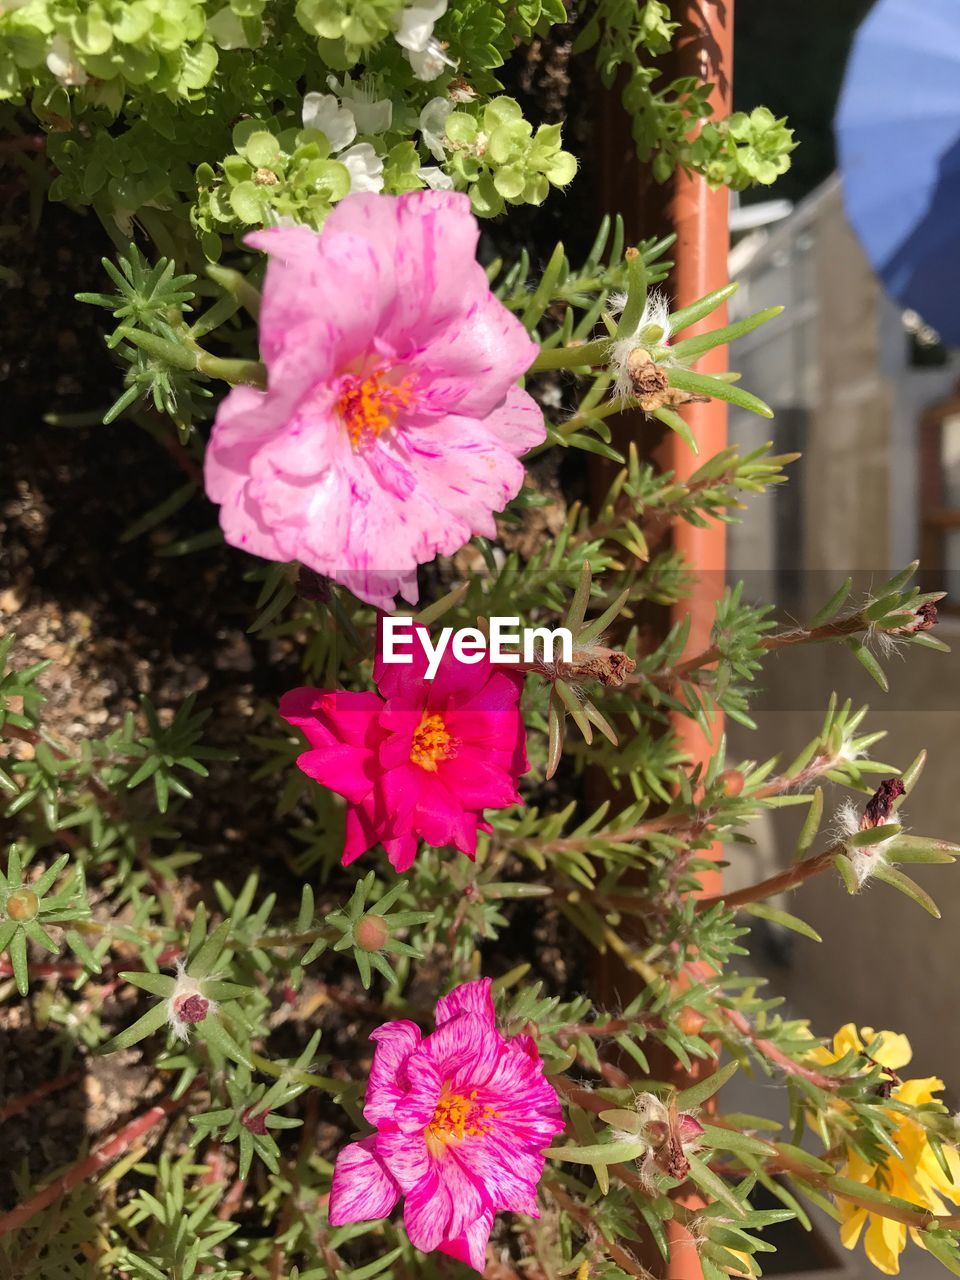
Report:
M 786 214 L 786 216 L 783 216 Z M 776 219 L 776 220 L 772 220 Z M 778 617 L 809 618 L 852 575 L 863 593 L 915 558 L 925 585 L 950 598 L 937 634 L 960 644 L 960 353 L 945 349 L 916 316 L 890 302 L 828 179 L 792 211 L 782 202 L 735 216 L 733 316 L 776 303 L 785 314 L 737 342 L 744 385 L 774 410 L 772 422 L 735 411 L 741 451 L 772 439 L 799 451 L 790 483 L 750 498 L 731 527 L 730 577 L 776 602 Z M 814 736 L 833 690 L 872 707 L 888 737 L 874 755 L 905 768 L 925 748 L 931 762 L 904 808 L 919 835 L 960 842 L 960 652 L 911 649 L 884 659 L 884 695 L 838 645 L 805 646 L 768 662 L 754 707 L 756 732 L 730 726 L 735 755 L 799 751 Z M 785 762 L 786 763 L 786 762 Z M 841 796 L 828 796 L 828 805 Z M 788 863 L 804 809 L 781 810 L 731 851 L 728 883 L 749 883 Z M 911 870 L 914 870 L 911 868 Z M 943 909 L 934 922 L 887 886 L 850 899 L 820 877 L 790 904 L 824 937 L 769 936 L 755 956 L 774 989 L 796 995 L 819 1034 L 845 1021 L 909 1034 L 915 1074 L 947 1075 L 960 1101 L 960 1020 L 955 1016 L 957 868 L 919 868 L 915 878 Z M 952 1074 L 951 1074 L 952 1073 Z

